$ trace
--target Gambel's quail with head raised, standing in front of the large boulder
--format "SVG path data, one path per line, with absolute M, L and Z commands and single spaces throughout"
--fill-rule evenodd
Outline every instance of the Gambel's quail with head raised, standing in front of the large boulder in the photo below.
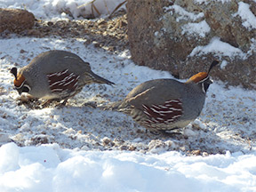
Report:
M 132 116 L 150 132 L 166 132 L 187 126 L 200 115 L 206 91 L 212 80 L 209 72 L 200 72 L 180 83 L 174 79 L 156 79 L 135 87 L 122 101 L 110 106 Z

